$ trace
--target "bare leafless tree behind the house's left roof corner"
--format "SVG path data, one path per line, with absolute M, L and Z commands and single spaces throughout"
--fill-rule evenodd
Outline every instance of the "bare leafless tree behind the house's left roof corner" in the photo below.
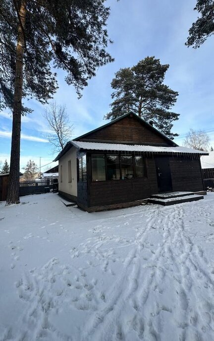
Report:
M 51 133 L 47 135 L 50 143 L 54 146 L 53 154 L 60 152 L 65 144 L 71 140 L 73 124 L 70 124 L 65 106 L 57 105 L 55 102 L 46 108 L 46 118 Z

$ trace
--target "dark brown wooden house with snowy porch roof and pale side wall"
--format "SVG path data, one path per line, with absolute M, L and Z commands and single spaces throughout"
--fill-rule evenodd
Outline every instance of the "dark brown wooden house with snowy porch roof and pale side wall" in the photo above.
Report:
M 59 194 L 88 212 L 125 207 L 171 191 L 204 190 L 200 156 L 179 147 L 133 113 L 68 142 L 59 162 Z

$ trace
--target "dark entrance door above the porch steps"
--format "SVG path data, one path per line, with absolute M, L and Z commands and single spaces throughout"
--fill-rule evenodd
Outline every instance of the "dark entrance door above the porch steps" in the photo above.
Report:
M 159 192 L 172 191 L 171 171 L 166 157 L 155 158 Z

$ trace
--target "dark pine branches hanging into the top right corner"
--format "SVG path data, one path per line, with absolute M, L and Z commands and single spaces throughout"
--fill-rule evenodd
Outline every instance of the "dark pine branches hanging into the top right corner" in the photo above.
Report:
M 185 45 L 197 49 L 214 34 L 214 0 L 198 0 L 194 10 L 197 10 L 201 16 L 189 29 L 189 37 Z

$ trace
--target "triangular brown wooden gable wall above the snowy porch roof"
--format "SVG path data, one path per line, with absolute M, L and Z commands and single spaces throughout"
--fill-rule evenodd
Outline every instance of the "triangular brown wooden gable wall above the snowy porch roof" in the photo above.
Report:
M 173 145 L 173 143 L 170 143 L 169 140 L 153 130 L 152 127 L 150 129 L 146 124 L 136 119 L 135 116 L 124 117 L 112 125 L 92 132 L 87 137 L 79 139 L 79 141 Z

